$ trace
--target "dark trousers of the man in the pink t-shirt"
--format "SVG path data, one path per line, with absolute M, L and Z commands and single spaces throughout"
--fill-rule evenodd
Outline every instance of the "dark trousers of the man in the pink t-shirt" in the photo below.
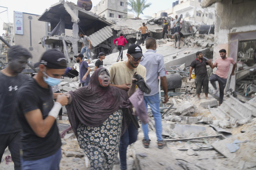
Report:
M 216 81 L 219 82 L 219 104 L 222 104 L 223 97 L 224 97 L 224 88 L 226 86 L 227 79 L 220 78 L 216 74 L 213 74 L 213 75 L 211 75 L 209 80 L 210 80 L 211 84 L 213 85 L 213 87 L 215 88 L 215 90 L 217 90 L 217 86 L 216 86 L 215 82 Z

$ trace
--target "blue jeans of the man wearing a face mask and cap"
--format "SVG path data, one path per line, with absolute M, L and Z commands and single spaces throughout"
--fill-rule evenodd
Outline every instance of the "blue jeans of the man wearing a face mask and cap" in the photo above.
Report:
M 22 170 L 59 170 L 59 162 L 61 161 L 61 148 L 46 158 L 38 160 L 23 160 L 21 156 Z

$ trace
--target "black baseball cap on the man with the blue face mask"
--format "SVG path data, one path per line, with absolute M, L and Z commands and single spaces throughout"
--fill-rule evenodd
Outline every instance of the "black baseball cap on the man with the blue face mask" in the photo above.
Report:
M 35 63 L 34 67 L 38 67 L 40 64 L 43 64 L 50 69 L 67 68 L 67 60 L 64 54 L 57 49 L 50 49 L 43 53 L 41 61 Z

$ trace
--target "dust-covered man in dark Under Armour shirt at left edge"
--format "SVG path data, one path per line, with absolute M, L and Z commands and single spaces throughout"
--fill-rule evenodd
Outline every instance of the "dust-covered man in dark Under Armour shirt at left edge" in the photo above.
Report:
M 27 60 L 32 56 L 27 49 L 14 45 L 10 47 L 7 57 L 8 65 L 0 71 L 0 160 L 8 146 L 14 169 L 18 170 L 21 169 L 19 158 L 21 126 L 18 122 L 15 104 L 18 89 L 30 78 L 21 72 L 25 69 Z

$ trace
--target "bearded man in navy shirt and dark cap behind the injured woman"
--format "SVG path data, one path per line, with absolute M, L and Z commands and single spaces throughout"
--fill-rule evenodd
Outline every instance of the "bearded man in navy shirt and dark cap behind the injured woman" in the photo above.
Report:
M 79 87 L 82 84 L 83 86 L 87 86 L 90 80 L 90 72 L 91 68 L 87 64 L 87 62 L 83 61 L 83 54 L 78 53 L 75 57 L 75 60 L 77 63 L 79 63 L 79 75 L 80 75 L 80 84 Z

